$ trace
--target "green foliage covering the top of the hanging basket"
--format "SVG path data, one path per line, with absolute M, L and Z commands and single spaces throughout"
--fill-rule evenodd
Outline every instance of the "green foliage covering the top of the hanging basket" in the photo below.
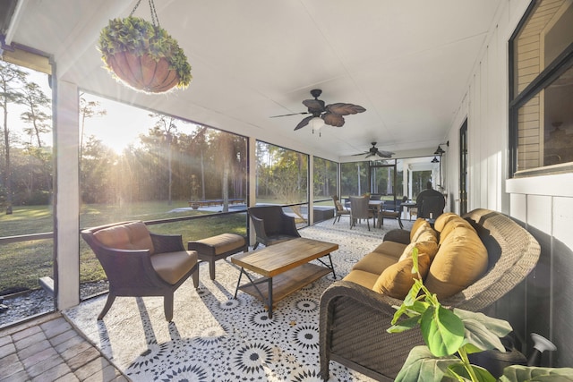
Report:
M 107 64 L 108 58 L 117 53 L 129 52 L 138 56 L 150 55 L 156 62 L 166 58 L 169 69 L 177 72 L 179 81 L 176 87 L 179 89 L 189 86 L 192 80 L 191 65 L 175 38 L 161 27 L 140 17 L 110 20 L 99 34 L 98 49 L 111 72 L 113 70 Z

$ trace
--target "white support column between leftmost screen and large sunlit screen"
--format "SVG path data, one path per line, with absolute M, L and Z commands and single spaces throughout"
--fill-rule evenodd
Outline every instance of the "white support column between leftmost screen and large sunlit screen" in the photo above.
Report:
M 54 116 L 56 155 L 55 251 L 57 309 L 80 303 L 80 170 L 78 160 L 78 88 L 56 83 Z

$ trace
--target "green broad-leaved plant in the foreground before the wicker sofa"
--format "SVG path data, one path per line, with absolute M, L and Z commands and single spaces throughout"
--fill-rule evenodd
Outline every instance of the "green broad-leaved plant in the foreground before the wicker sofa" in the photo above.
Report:
M 511 332 L 509 323 L 483 313 L 442 306 L 437 296 L 423 285 L 416 248 L 412 258 L 412 273 L 417 278 L 402 305 L 397 307 L 388 331 L 400 333 L 420 327 L 426 345 L 412 349 L 396 380 L 495 381 L 488 370 L 471 364 L 467 354 L 492 349 L 505 352 L 500 337 Z

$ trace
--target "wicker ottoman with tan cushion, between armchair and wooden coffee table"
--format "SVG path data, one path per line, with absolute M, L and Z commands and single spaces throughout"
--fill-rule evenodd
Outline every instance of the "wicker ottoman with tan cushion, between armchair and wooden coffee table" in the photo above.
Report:
M 249 246 L 245 238 L 235 233 L 222 233 L 194 242 L 187 242 L 188 250 L 196 250 L 199 259 L 209 262 L 209 276 L 215 280 L 215 261 L 240 251 L 246 252 Z

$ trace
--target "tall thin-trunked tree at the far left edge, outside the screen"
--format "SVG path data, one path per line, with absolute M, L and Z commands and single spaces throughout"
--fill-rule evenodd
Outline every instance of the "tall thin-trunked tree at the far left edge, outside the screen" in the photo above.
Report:
M 26 72 L 15 65 L 0 61 L 0 106 L 4 111 L 4 168 L 3 181 L 6 192 L 6 215 L 12 215 L 12 168 L 10 166 L 10 129 L 8 127 L 8 107 L 20 102 L 19 85 L 25 83 Z

